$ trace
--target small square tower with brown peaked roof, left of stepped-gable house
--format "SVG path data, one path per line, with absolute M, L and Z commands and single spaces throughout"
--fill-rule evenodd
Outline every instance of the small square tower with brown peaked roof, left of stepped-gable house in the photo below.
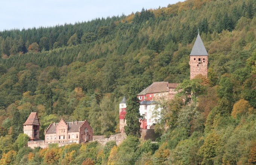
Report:
M 23 124 L 23 132 L 30 137 L 30 140 L 39 140 L 40 123 L 37 112 L 31 112 L 26 122 Z

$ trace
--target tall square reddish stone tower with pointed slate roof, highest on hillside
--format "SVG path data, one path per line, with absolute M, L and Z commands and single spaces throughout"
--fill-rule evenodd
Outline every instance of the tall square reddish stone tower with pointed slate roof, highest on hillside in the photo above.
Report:
M 199 32 L 189 58 L 190 80 L 198 74 L 202 74 L 203 76 L 207 77 L 208 53 L 204 47 L 204 43 L 199 35 Z

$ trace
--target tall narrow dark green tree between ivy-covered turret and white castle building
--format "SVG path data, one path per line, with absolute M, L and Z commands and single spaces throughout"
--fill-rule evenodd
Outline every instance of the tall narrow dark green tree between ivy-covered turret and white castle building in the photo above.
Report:
M 126 102 L 126 126 L 125 126 L 125 133 L 126 135 L 133 135 L 140 138 L 140 122 L 139 120 L 142 119 L 140 115 L 140 103 L 139 99 L 136 95 L 136 90 L 134 88 L 130 89 L 129 92 L 130 97 Z

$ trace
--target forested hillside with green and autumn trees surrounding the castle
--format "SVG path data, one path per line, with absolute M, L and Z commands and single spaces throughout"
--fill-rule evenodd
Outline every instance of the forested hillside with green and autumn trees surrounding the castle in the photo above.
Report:
M 209 54 L 208 79 L 189 80 L 198 28 Z M 5 30 L 0 54 L 1 164 L 81 164 L 96 157 L 256 163 L 256 0 L 187 0 L 128 16 Z M 123 94 L 155 81 L 181 83 L 178 97 L 159 105 L 158 143 L 128 136 L 119 146 L 23 147 L 27 139 L 20 133 L 30 112 L 38 112 L 41 139 L 61 118 L 86 119 L 94 135 L 119 132 Z M 167 162 L 108 161 L 115 163 Z

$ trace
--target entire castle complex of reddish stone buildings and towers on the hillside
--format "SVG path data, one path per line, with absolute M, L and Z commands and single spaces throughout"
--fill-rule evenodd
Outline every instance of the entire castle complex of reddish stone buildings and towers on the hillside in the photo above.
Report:
M 203 41 L 198 33 L 194 46 L 189 56 L 190 65 L 190 79 L 201 74 L 207 77 L 208 69 L 208 53 L 204 47 Z M 152 114 L 155 109 L 156 101 L 158 99 L 173 99 L 177 93 L 178 83 L 169 82 L 154 82 L 141 91 L 137 98 L 140 100 L 140 115 L 144 115 L 145 119 L 140 121 L 140 127 L 142 134 L 153 134 L 154 124 L 157 123 L 157 117 Z M 158 111 L 161 109 L 158 108 Z M 93 138 L 93 129 L 88 121 L 72 121 L 65 122 L 63 119 L 59 123 L 52 123 L 44 130 L 45 140 L 40 140 L 39 129 L 40 122 L 37 117 L 37 112 L 32 112 L 23 124 L 23 132 L 30 138 L 28 147 L 35 148 L 47 148 L 49 144 L 55 143 L 59 146 L 72 144 L 72 143 L 85 143 L 88 141 L 98 141 L 101 144 L 105 144 L 107 141 L 114 140 L 119 144 L 126 138 L 124 133 L 124 127 L 126 125 L 126 97 L 124 96 L 119 104 L 119 130 L 120 133 L 111 135 L 109 138 L 102 136 L 95 136 Z M 144 130 L 144 131 L 143 131 Z M 146 135 L 147 136 L 147 135 Z

